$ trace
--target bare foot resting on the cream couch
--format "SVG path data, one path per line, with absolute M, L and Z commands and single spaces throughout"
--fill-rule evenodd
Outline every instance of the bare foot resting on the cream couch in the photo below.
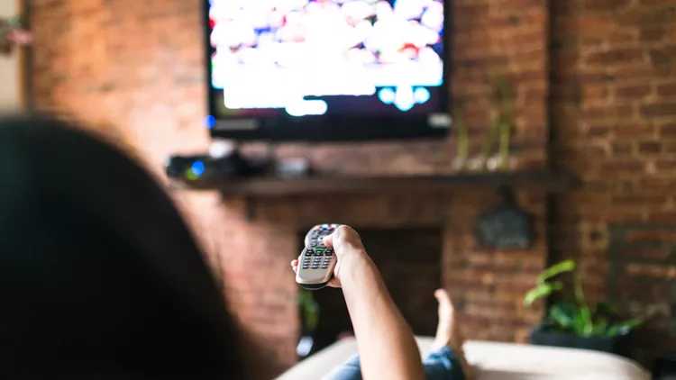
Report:
M 462 350 L 464 343 L 458 324 L 455 323 L 455 309 L 451 302 L 451 297 L 443 289 L 438 289 L 434 292 L 434 297 L 439 302 L 439 324 L 436 326 L 436 336 L 432 344 L 432 350 L 436 351 L 444 346 L 448 346 L 453 350 L 455 355 L 460 360 L 462 372 L 465 373 L 465 379 L 470 380 L 471 367 L 465 359 L 465 353 Z

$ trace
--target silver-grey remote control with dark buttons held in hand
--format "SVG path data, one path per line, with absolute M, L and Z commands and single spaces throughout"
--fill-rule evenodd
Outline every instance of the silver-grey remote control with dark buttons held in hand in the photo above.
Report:
M 317 224 L 306 234 L 305 248 L 298 258 L 296 282 L 308 290 L 319 290 L 326 286 L 333 276 L 337 262 L 333 249 L 324 246 L 324 238 L 340 224 Z

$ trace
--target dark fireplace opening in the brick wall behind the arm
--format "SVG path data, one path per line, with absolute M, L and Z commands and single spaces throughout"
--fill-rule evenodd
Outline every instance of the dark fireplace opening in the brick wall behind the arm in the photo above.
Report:
M 442 230 L 360 230 L 361 240 L 379 267 L 389 293 L 416 335 L 434 336 L 441 286 Z M 300 241 L 305 232 L 300 233 Z M 319 306 L 312 352 L 325 348 L 343 334 L 352 333 L 350 315 L 340 289 L 312 293 Z M 302 311 L 301 311 L 302 315 Z

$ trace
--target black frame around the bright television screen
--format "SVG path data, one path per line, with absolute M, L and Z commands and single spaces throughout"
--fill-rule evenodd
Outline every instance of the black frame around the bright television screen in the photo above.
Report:
M 202 0 L 203 24 L 205 31 L 205 68 L 207 116 L 215 115 L 216 97 L 220 90 L 212 86 L 211 57 L 215 52 L 211 45 L 209 0 Z M 271 141 L 357 141 L 357 140 L 402 140 L 434 139 L 445 137 L 451 123 L 434 126 L 430 117 L 436 114 L 450 117 L 452 92 L 452 0 L 443 0 L 443 84 L 439 86 L 439 109 L 435 113 L 394 115 L 321 115 L 296 117 L 283 114 L 277 117 L 215 117 L 210 128 L 212 138 L 228 140 L 271 140 Z M 450 120 L 450 119 L 449 119 Z M 224 126 L 224 123 L 239 124 Z

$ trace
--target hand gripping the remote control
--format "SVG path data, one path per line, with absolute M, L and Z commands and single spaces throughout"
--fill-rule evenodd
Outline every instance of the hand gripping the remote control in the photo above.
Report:
M 361 243 L 361 238 L 357 231 L 348 226 L 340 226 L 333 233 L 324 238 L 324 245 L 327 248 L 333 248 L 338 262 L 333 269 L 333 277 L 327 286 L 341 287 L 341 274 L 348 266 L 344 264 L 350 262 L 354 255 L 365 255 L 366 249 Z M 298 271 L 298 260 L 291 261 L 291 267 L 294 272 Z

